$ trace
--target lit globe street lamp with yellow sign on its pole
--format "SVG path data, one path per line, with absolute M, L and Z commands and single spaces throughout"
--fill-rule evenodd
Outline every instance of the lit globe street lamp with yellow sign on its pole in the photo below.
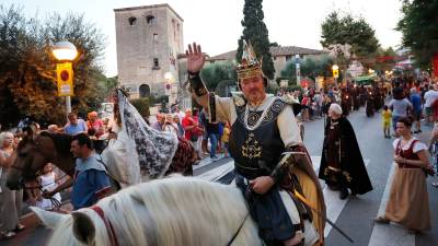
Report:
M 66 96 L 67 116 L 71 113 L 71 98 L 73 95 L 73 71 L 71 61 L 78 56 L 76 46 L 68 40 L 58 42 L 51 48 L 51 54 L 59 61 L 56 66 L 58 96 Z

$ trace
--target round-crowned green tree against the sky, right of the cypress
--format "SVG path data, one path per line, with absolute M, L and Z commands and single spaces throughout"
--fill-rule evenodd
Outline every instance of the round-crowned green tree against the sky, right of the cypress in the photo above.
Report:
M 356 56 L 369 56 L 374 54 L 379 47 L 376 31 L 359 17 L 355 20 L 350 14 L 339 17 L 334 11 L 327 15 L 321 25 L 321 45 L 328 48 L 335 44 L 349 44 Z

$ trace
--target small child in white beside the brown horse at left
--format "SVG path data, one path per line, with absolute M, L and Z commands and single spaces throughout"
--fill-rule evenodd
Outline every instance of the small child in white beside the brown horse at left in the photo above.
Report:
M 43 174 L 38 176 L 38 184 L 42 186 L 42 190 L 48 190 L 51 191 L 54 190 L 58 184 L 57 184 L 57 175 L 55 174 L 53 169 L 51 163 L 47 163 L 44 168 L 43 168 Z M 51 199 L 55 199 L 51 201 L 50 199 L 44 199 L 38 197 L 36 201 L 36 207 L 45 209 L 45 210 L 53 210 L 56 209 L 55 204 L 60 204 L 61 203 L 61 195 L 55 194 Z

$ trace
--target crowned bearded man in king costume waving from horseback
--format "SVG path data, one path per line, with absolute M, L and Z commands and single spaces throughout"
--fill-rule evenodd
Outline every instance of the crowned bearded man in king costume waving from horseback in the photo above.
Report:
M 228 120 L 232 126 L 229 148 L 235 183 L 265 243 L 323 245 L 324 198 L 300 137 L 293 102 L 266 94 L 267 79 L 251 44 L 244 42 L 243 50 L 242 63 L 237 66 L 243 95 L 219 97 L 207 91 L 199 75 L 205 62 L 200 46 L 188 45 L 192 95 L 211 122 Z

